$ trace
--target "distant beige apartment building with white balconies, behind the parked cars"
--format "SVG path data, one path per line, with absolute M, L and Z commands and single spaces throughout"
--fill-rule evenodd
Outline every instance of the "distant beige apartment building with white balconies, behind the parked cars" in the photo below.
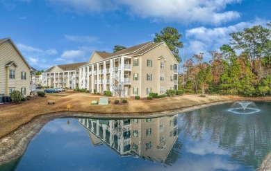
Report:
M 79 86 L 79 67 L 85 62 L 52 66 L 42 73 L 42 86 L 75 89 Z

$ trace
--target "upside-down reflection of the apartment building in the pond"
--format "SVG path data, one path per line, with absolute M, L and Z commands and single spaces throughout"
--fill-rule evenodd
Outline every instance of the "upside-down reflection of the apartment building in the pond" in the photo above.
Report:
M 179 129 L 177 115 L 146 119 L 92 119 L 79 118 L 87 129 L 93 145 L 107 145 L 120 156 L 135 156 L 170 164 L 178 158 L 174 148 Z

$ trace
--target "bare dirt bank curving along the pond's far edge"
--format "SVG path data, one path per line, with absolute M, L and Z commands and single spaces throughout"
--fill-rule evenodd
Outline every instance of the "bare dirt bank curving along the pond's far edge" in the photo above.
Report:
M 231 100 L 224 100 L 220 102 L 209 102 L 202 105 L 194 105 L 192 107 L 183 107 L 181 109 L 173 109 L 170 111 L 159 111 L 151 113 L 133 113 L 129 115 L 123 114 L 97 114 L 88 113 L 82 111 L 63 111 L 56 112 L 52 114 L 42 114 L 40 116 L 35 116 L 31 121 L 21 125 L 15 131 L 10 132 L 10 134 L 3 136 L 0 139 L 0 165 L 8 163 L 17 159 L 19 156 L 24 154 L 28 143 L 40 132 L 40 129 L 49 121 L 56 118 L 79 118 L 79 117 L 89 117 L 89 118 L 155 118 L 161 116 L 170 116 L 174 114 L 180 114 L 187 111 L 192 111 L 195 109 L 201 109 L 208 106 L 220 105 L 224 103 L 232 102 Z

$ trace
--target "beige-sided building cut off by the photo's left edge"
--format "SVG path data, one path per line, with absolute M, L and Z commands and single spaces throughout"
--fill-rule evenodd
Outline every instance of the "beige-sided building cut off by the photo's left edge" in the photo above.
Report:
M 12 91 L 30 94 L 32 68 L 15 46 L 12 39 L 0 39 L 0 95 L 10 96 Z

